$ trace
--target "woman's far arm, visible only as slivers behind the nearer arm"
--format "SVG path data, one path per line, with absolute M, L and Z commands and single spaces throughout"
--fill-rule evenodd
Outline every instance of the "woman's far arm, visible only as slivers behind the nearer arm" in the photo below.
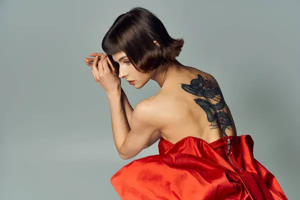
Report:
M 132 112 L 133 112 L 133 108 L 130 105 L 128 98 L 124 92 L 124 90 L 121 88 L 121 101 L 122 101 L 122 106 L 126 115 L 126 119 L 128 122 L 128 125 L 130 127 L 130 121 L 131 121 L 131 116 L 132 116 Z M 151 136 L 151 139 L 149 140 L 148 144 L 144 147 L 147 148 L 149 146 L 151 146 L 153 143 L 155 143 L 158 139 L 160 138 L 160 132 L 158 130 L 156 130 L 153 135 Z

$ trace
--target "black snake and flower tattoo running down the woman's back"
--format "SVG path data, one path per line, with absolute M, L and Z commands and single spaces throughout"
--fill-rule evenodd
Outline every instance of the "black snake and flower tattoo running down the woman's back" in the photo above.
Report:
M 198 74 L 198 78 L 190 81 L 190 84 L 181 84 L 181 88 L 188 93 L 204 98 L 195 98 L 194 101 L 206 112 L 209 126 L 220 128 L 223 135 L 227 136 L 225 130 L 232 126 L 229 115 L 223 110 L 226 103 L 217 81 L 210 75 L 204 78 Z

